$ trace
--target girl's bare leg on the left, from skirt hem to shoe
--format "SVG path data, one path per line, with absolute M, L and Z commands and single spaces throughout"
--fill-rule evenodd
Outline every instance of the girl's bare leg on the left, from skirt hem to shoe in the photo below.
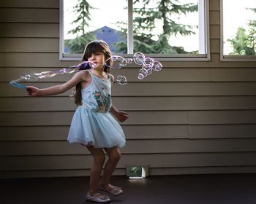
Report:
M 94 164 L 91 168 L 90 173 L 90 195 L 94 195 L 95 193 L 99 192 L 99 181 L 101 176 L 102 167 L 105 162 L 105 155 L 103 149 L 94 148 L 94 146 L 86 146 L 87 149 L 91 152 L 94 156 Z

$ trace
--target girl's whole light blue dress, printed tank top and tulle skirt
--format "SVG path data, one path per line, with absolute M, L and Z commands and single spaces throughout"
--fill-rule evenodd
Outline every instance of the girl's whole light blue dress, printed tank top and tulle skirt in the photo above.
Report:
M 101 79 L 91 73 L 91 84 L 82 90 L 82 106 L 72 118 L 67 141 L 92 145 L 95 148 L 125 146 L 124 131 L 110 114 L 111 79 Z

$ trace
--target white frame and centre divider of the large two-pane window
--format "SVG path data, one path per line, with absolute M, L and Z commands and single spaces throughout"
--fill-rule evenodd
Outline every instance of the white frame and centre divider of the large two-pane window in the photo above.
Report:
M 80 60 L 82 54 L 65 54 L 64 53 L 64 5 L 63 1 L 59 0 L 59 60 Z M 205 51 L 206 54 L 172 54 L 172 55 L 157 55 L 150 54 L 156 60 L 161 61 L 209 61 L 210 60 L 210 37 L 209 37 L 209 0 L 198 0 L 199 12 L 199 51 Z M 203 16 L 203 17 L 201 17 Z M 203 26 L 202 26 L 203 25 Z M 121 55 L 124 58 L 132 58 L 133 50 L 133 26 L 132 26 L 132 0 L 128 0 L 128 34 L 127 34 L 127 52 L 126 55 Z M 147 55 L 147 54 L 146 54 Z M 149 54 L 148 54 L 149 55 Z

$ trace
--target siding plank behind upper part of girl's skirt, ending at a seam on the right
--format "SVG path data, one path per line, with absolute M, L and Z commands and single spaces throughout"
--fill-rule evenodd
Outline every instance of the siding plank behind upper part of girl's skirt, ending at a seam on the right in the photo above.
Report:
M 187 111 L 128 111 L 126 125 L 187 124 Z M 0 112 L 2 126 L 70 125 L 74 111 Z

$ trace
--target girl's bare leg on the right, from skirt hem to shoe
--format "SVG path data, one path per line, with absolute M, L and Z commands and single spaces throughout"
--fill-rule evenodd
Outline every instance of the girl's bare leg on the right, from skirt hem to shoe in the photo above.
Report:
M 110 183 L 110 178 L 114 170 L 116 169 L 116 165 L 121 157 L 121 152 L 117 146 L 114 146 L 112 148 L 105 148 L 105 152 L 107 152 L 109 159 L 105 165 L 103 176 L 99 181 L 100 187 L 108 187 Z

